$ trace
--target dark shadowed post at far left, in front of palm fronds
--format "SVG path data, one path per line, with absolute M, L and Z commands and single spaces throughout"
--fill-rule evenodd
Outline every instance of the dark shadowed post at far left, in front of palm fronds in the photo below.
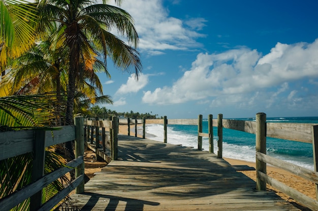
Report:
M 35 182 L 44 176 L 45 163 L 45 131 L 35 131 L 35 141 L 33 146 L 33 168 L 31 181 Z M 30 211 L 38 210 L 42 205 L 42 190 L 31 196 Z

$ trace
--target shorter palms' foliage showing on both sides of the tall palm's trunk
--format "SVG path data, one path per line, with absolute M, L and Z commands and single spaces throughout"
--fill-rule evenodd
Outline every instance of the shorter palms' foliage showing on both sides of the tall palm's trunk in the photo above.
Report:
M 30 51 L 14 60 L 8 66 L 8 73 L 0 84 L 0 89 L 7 89 L 8 95 L 29 95 L 34 93 L 56 92 L 57 101 L 60 105 L 65 105 L 63 94 L 67 90 L 68 63 L 63 60 L 65 51 L 61 48 L 55 51 L 50 50 L 49 41 L 43 41 Z M 103 86 L 96 72 L 105 72 L 110 77 L 109 72 L 103 62 L 97 59 L 93 64 L 93 69 L 85 71 L 84 80 L 78 80 L 75 103 L 77 108 L 83 109 L 82 103 L 87 105 L 94 103 L 112 103 L 110 96 L 103 95 Z M 78 104 L 79 103 L 79 104 Z M 56 107 L 56 125 L 62 125 L 60 117 L 65 108 Z M 83 113 L 84 110 L 75 111 L 74 114 Z M 64 112 L 65 113 L 65 112 Z

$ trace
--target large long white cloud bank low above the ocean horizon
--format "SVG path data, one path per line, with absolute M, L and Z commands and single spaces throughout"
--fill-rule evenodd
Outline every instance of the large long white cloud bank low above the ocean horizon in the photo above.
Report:
M 142 98 L 149 104 L 177 104 L 212 97 L 212 106 L 248 106 L 256 98 L 272 104 L 278 95 L 290 93 L 289 83 L 318 78 L 318 39 L 311 44 L 280 44 L 262 56 L 257 50 L 240 48 L 220 54 L 197 55 L 190 70 L 171 87 L 147 91 Z M 276 88 L 276 90 L 273 90 Z M 265 92 L 266 91 L 266 92 Z M 266 93 L 266 95 L 264 94 Z

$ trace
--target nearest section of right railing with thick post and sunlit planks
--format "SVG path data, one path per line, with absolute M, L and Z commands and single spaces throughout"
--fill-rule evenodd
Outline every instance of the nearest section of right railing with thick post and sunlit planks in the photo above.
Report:
M 266 114 L 256 114 L 256 121 L 242 121 L 223 119 L 224 128 L 256 134 L 256 189 L 266 190 L 266 184 L 277 188 L 282 193 L 289 195 L 304 206 L 318 210 L 318 125 L 312 123 L 285 123 L 285 122 L 266 122 Z M 307 168 L 266 155 L 266 137 L 310 143 L 313 145 L 314 171 Z M 300 193 L 299 191 L 269 177 L 266 174 L 266 164 L 271 164 L 282 170 L 298 175 L 316 186 L 316 200 Z

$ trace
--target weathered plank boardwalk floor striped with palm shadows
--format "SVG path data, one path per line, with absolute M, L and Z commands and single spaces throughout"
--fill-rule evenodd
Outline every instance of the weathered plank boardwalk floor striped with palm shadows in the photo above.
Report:
M 74 194 L 78 210 L 299 210 L 215 154 L 119 135 L 112 161 Z

